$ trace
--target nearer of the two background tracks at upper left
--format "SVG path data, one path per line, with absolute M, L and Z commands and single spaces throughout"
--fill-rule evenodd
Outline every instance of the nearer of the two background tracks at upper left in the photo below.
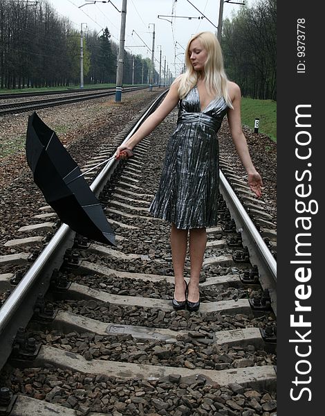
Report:
M 123 89 L 123 92 L 138 91 L 138 89 L 145 89 L 146 87 L 126 87 Z M 70 92 L 71 93 L 71 92 Z M 54 107 L 56 105 L 64 105 L 77 103 L 79 101 L 92 100 L 93 98 L 102 98 L 106 96 L 111 96 L 115 94 L 115 89 L 111 91 L 91 91 L 89 92 L 80 92 L 80 94 L 72 94 L 69 97 L 53 97 L 45 98 L 37 101 L 20 101 L 15 103 L 6 103 L 0 104 L 0 116 L 4 114 L 12 114 L 18 112 L 26 112 L 31 110 L 37 110 L 45 107 Z

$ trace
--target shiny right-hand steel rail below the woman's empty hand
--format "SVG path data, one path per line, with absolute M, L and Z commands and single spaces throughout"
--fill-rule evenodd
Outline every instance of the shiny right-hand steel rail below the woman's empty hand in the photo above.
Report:
M 241 232 L 243 245 L 248 248 L 252 265 L 259 268 L 259 282 L 263 289 L 270 291 L 272 309 L 277 315 L 277 261 L 272 256 L 261 234 L 234 193 L 225 175 L 220 171 L 220 191 L 230 211 L 236 229 Z

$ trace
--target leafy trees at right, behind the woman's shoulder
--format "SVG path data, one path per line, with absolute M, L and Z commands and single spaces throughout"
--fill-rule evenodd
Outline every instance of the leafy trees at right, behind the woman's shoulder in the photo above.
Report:
M 277 99 L 277 1 L 240 7 L 223 21 L 221 39 L 228 78 L 243 96 Z

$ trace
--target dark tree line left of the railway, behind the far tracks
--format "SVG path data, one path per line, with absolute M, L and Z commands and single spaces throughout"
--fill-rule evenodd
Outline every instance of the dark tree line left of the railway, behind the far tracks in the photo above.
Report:
M 46 0 L 1 0 L 0 88 L 78 85 L 80 43 L 80 31 Z M 108 28 L 84 33 L 83 52 L 84 84 L 115 83 L 118 44 Z M 124 84 L 149 83 L 150 68 L 149 58 L 124 51 Z

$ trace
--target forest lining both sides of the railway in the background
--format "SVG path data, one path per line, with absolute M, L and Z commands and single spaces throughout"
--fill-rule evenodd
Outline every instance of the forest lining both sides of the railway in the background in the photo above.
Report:
M 243 96 L 276 100 L 276 21 L 276 0 L 241 6 L 232 19 L 223 21 L 225 69 L 241 85 Z M 83 49 L 84 84 L 115 83 L 118 44 L 111 40 L 109 28 L 84 33 Z M 149 83 L 150 67 L 149 58 L 124 51 L 123 83 Z M 157 71 L 154 77 L 158 82 Z M 79 83 L 80 31 L 71 21 L 59 17 L 46 0 L 35 6 L 24 0 L 1 0 L 0 88 Z

